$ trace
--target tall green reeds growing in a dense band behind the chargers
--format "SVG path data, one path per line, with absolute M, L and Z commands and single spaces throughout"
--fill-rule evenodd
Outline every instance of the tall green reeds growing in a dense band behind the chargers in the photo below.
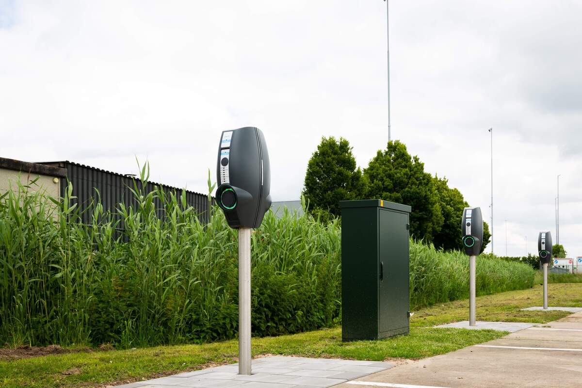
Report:
M 115 214 L 97 201 L 90 225 L 70 205 L 71 186 L 59 200 L 22 184 L 0 198 L 2 343 L 127 348 L 236 335 L 236 231 L 217 209 L 203 225 L 184 196 L 140 187 L 136 205 Z M 265 216 L 251 241 L 255 335 L 339 322 L 340 236 L 338 220 Z M 414 308 L 467 296 L 459 252 L 411 242 L 410 259 Z M 534 277 L 527 265 L 495 259 L 478 259 L 477 271 L 480 294 L 530 287 Z

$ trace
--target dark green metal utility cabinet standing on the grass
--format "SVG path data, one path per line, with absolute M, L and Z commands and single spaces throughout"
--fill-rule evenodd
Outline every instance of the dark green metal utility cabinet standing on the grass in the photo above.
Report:
M 342 339 L 375 340 L 409 332 L 410 206 L 340 201 Z

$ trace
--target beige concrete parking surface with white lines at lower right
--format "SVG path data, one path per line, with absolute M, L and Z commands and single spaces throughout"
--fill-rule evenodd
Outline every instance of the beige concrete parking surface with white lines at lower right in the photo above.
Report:
M 582 312 L 337 388 L 580 388 Z

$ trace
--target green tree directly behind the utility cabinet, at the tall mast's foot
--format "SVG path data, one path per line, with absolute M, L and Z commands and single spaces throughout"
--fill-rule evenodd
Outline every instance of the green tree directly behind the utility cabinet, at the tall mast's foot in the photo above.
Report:
M 364 169 L 364 177 L 368 198 L 410 205 L 410 233 L 416 239 L 433 241 L 443 217 L 432 176 L 424 172 L 418 156 L 410 156 L 400 141 L 389 141 Z

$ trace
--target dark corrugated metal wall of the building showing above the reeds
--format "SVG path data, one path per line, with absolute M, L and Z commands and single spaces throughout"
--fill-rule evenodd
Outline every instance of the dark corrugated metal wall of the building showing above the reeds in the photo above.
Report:
M 136 205 L 136 198 L 132 193 L 134 185 L 137 184 L 137 188 L 141 189 L 142 184 L 139 179 L 134 179 L 132 176 L 126 176 L 114 172 L 109 172 L 106 170 L 97 169 L 90 166 L 80 165 L 73 162 L 45 162 L 44 165 L 59 166 L 67 170 L 67 179 L 61 179 L 61 197 L 64 196 L 67 187 L 67 181 L 73 184 L 73 195 L 77 197 L 72 200 L 72 203 L 76 203 L 81 212 L 81 222 L 90 223 L 91 213 L 93 208 L 91 207 L 91 202 L 97 201 L 98 191 L 103 205 L 104 211 L 111 211 L 112 213 L 117 213 L 116 208 L 118 204 L 123 203 L 126 208 L 130 205 Z M 154 182 L 148 182 L 145 186 L 144 193 L 150 193 L 150 191 L 155 190 L 155 187 L 162 188 L 166 195 L 169 193 L 174 193 L 178 197 L 182 194 L 180 188 L 167 186 L 165 184 L 159 184 Z M 186 190 L 186 202 L 189 206 L 196 209 L 198 219 L 200 222 L 207 223 L 209 219 L 210 207 L 208 204 L 207 195 L 195 193 L 194 191 Z M 157 209 L 158 216 L 162 218 L 164 212 L 162 211 L 162 201 L 156 198 L 154 201 L 154 206 Z M 119 225 L 123 227 L 123 225 Z

